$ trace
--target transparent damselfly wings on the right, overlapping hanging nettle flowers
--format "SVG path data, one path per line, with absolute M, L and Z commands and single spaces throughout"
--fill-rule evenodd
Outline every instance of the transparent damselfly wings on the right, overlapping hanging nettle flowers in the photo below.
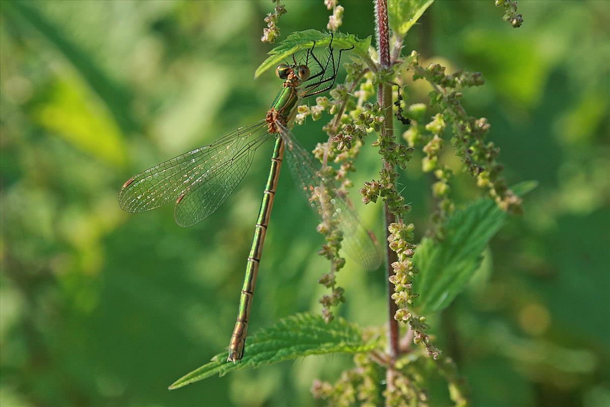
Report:
M 285 156 L 290 172 L 306 195 L 310 206 L 320 219 L 339 221 L 339 230 L 343 233 L 342 247 L 350 258 L 367 270 L 378 269 L 382 252 L 375 234 L 365 227 L 350 199 L 337 189 L 332 191 L 334 199 L 322 204 L 320 191 L 323 191 L 323 179 L 318 174 L 320 163 L 296 141 L 288 129 L 281 126 L 281 130 L 286 142 Z

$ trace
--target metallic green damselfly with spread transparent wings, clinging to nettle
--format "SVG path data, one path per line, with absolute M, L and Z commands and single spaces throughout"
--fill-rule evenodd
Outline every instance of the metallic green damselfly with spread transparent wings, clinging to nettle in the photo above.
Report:
M 315 42 L 307 50 L 304 63 L 297 63 L 293 55 L 293 64 L 278 66 L 276 74 L 284 83 L 264 119 L 240 127 L 209 146 L 199 147 L 135 175 L 124 183 L 119 193 L 120 206 L 128 212 L 142 212 L 175 201 L 176 222 L 184 227 L 194 225 L 220 207 L 248 171 L 256 149 L 268 139 L 275 138 L 271 169 L 246 261 L 237 322 L 229 343 L 229 361 L 239 361 L 243 357 L 254 285 L 284 152 L 293 177 L 306 193 L 310 205 L 322 218 L 331 217 L 339 221 L 348 255 L 367 269 L 376 269 L 381 263 L 381 251 L 375 236 L 362 225 L 348 199 L 337 190 L 333 191 L 328 205 L 320 199 L 324 180 L 319 175 L 319 165 L 289 130 L 304 97 L 332 88 L 341 53 L 348 51 L 340 49 L 335 61 L 331 37 L 328 58 L 321 63 L 314 55 L 314 47 Z M 309 63 L 315 65 L 317 73 L 310 74 Z

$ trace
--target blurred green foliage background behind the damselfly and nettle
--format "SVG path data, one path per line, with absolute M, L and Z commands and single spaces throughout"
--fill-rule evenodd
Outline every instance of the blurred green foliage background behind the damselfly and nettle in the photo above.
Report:
M 372 34 L 372 3 L 342 3 L 342 31 Z M 286 5 L 280 39 L 325 29 L 321 0 Z M 2 2 L 2 406 L 313 405 L 312 380 L 351 366 L 348 356 L 310 357 L 167 391 L 228 345 L 271 144 L 195 227 L 174 224 L 171 205 L 132 215 L 117 203 L 131 175 L 264 116 L 278 80 L 253 73 L 270 49 L 259 38 L 272 7 Z M 513 29 L 492 1 L 436 2 L 406 40 L 404 52 L 449 71 L 483 72 L 466 110 L 491 122 L 509 184 L 539 182 L 431 325 L 475 406 L 607 406 L 610 2 L 520 1 L 519 12 L 525 23 Z M 426 101 L 420 82 L 407 101 Z M 321 124 L 295 134 L 312 147 L 326 138 Z M 379 167 L 373 149 L 361 158 L 356 185 Z M 417 160 L 401 180 L 422 235 L 429 180 Z M 468 177 L 453 191 L 458 202 L 480 194 Z M 382 232 L 380 205 L 362 214 Z M 328 264 L 315 225 L 284 171 L 252 331 L 320 312 Z M 384 323 L 381 271 L 350 263 L 339 284 L 340 314 Z M 430 380 L 434 405 L 447 405 L 442 379 Z

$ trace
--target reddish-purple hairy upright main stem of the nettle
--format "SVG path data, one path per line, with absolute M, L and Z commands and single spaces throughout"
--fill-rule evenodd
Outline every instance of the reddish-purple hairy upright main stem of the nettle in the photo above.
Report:
M 390 32 L 387 21 L 387 0 L 376 0 L 375 1 L 375 29 L 377 34 L 377 49 L 379 52 L 379 63 L 381 68 L 388 68 L 390 66 Z M 392 116 L 392 85 L 389 83 L 379 83 L 379 89 L 377 93 L 377 102 L 381 106 L 382 111 L 386 112 L 386 119 L 381 126 L 381 132 L 384 136 L 393 138 L 393 116 Z M 387 112 L 390 112 L 388 114 Z M 394 166 L 388 163 L 386 160 L 383 161 L 383 167 L 387 171 L 395 171 Z M 390 213 L 387 203 L 384 203 L 384 213 L 386 215 L 386 238 L 389 238 L 389 226 L 396 222 L 395 216 Z M 389 322 L 389 334 L 388 334 L 388 345 L 390 355 L 390 366 L 387 369 L 386 383 L 387 391 L 391 394 L 394 391 L 394 379 L 396 371 L 394 364 L 400 355 L 400 330 L 398 327 L 398 321 L 395 319 L 397 311 L 396 302 L 392 299 L 394 293 L 394 286 L 389 281 L 389 278 L 394 274 L 392 263 L 398 261 L 397 253 L 394 252 L 390 247 L 386 247 L 386 270 L 387 270 L 387 301 L 388 301 L 388 322 Z M 390 397 L 386 397 L 386 405 L 389 402 Z

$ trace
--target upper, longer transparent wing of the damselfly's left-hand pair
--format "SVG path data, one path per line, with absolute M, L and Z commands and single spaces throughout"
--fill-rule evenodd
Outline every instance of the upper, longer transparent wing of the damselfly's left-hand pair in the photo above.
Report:
M 240 127 L 209 146 L 199 147 L 149 168 L 124 183 L 118 196 L 119 205 L 128 212 L 142 212 L 180 197 L 184 199 L 193 189 L 206 185 L 208 180 L 217 180 L 218 171 L 226 169 L 227 163 L 243 154 L 244 149 L 248 150 L 266 133 L 266 124 L 262 120 L 249 127 Z M 223 194 L 218 194 L 218 197 L 221 196 Z

